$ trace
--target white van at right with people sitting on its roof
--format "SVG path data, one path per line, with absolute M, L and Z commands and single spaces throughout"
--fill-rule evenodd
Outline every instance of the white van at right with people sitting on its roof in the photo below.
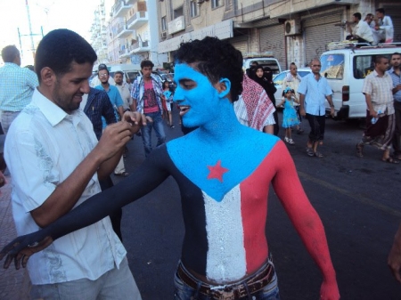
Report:
M 365 118 L 366 102 L 362 93 L 364 77 L 374 69 L 376 55 L 401 53 L 400 44 L 357 45 L 350 42 L 331 43 L 322 54 L 321 75 L 327 78 L 333 91 L 336 119 Z M 326 112 L 330 114 L 326 102 Z

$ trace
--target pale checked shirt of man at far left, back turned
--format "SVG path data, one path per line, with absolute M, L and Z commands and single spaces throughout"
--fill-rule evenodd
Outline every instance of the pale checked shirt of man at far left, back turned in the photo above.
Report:
M 21 111 L 39 85 L 35 72 L 13 62 L 4 63 L 0 78 L 0 110 L 3 111 Z

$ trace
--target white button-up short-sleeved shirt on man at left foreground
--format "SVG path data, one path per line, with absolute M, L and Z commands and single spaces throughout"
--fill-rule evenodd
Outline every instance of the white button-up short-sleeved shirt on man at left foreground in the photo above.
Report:
M 70 115 L 36 90 L 12 122 L 4 155 L 12 175 L 12 215 L 19 235 L 40 230 L 30 211 L 40 207 L 94 149 L 90 120 L 81 110 Z M 100 192 L 94 174 L 76 207 Z M 28 261 L 33 284 L 96 280 L 127 254 L 106 217 L 56 239 Z

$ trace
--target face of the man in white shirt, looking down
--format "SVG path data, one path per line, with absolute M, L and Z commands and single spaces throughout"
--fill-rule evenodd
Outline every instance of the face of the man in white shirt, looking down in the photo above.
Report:
M 92 74 L 92 63 L 71 63 L 71 70 L 53 81 L 53 103 L 70 114 L 79 108 L 84 93 L 89 93 L 88 78 Z

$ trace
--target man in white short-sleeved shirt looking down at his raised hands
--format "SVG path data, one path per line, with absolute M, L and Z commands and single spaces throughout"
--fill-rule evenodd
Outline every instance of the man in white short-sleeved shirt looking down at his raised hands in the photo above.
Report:
M 18 234 L 53 223 L 100 192 L 99 179 L 112 172 L 138 129 L 112 124 L 97 141 L 78 109 L 96 59 L 91 45 L 68 29 L 51 31 L 37 47 L 39 86 L 12 122 L 4 151 Z M 105 217 L 33 255 L 29 276 L 44 299 L 141 299 L 126 254 Z

